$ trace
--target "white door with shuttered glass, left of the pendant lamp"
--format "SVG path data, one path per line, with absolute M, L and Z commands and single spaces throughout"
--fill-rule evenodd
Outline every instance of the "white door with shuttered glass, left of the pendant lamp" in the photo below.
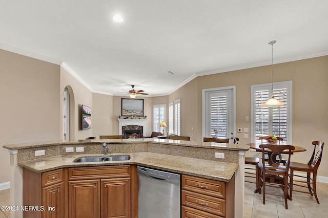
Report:
M 203 137 L 234 135 L 234 87 L 203 90 Z

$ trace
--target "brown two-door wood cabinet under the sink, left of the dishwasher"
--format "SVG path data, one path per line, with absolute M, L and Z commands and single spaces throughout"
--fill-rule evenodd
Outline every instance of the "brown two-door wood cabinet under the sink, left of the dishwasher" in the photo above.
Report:
M 72 167 L 68 175 L 69 217 L 134 217 L 130 165 Z

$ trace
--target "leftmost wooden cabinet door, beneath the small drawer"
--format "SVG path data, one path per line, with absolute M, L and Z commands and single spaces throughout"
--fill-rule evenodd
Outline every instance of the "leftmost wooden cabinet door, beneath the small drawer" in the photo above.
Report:
M 44 218 L 64 217 L 64 184 L 59 183 L 42 188 L 42 205 Z

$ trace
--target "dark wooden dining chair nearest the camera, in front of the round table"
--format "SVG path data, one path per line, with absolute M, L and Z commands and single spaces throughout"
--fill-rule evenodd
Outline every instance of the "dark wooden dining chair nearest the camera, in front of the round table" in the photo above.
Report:
M 264 160 L 266 154 L 265 149 L 267 151 L 269 150 L 271 153 L 271 156 L 269 157 L 269 162 L 271 164 L 258 163 L 259 193 L 263 191 L 263 204 L 265 204 L 265 194 L 272 194 L 284 197 L 285 208 L 288 209 L 289 166 L 292 150 L 294 150 L 295 147 L 292 145 L 261 144 L 260 148 L 262 148 L 262 160 Z M 283 151 L 286 152 L 286 150 L 288 150 L 287 164 L 280 165 L 282 159 L 281 154 Z M 277 191 L 269 192 L 266 190 L 266 187 L 279 187 L 283 190 L 283 195 Z

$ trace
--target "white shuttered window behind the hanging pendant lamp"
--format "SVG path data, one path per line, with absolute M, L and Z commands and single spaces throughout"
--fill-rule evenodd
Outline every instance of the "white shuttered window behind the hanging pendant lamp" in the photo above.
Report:
M 271 98 L 271 83 L 251 85 L 251 142 L 258 137 L 275 135 L 284 144 L 292 143 L 292 81 L 274 83 L 273 97 L 286 106 L 261 107 Z

